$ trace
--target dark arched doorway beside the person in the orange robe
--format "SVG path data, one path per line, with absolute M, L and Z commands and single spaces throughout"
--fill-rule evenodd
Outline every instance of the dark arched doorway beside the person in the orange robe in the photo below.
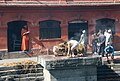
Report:
M 8 52 L 21 51 L 21 30 L 27 21 L 12 21 L 7 23 L 7 37 L 8 37 Z

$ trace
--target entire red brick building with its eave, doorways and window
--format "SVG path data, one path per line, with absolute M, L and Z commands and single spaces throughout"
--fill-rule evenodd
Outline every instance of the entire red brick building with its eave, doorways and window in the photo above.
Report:
M 115 50 L 120 49 L 119 0 L 1 0 L 0 49 L 20 51 L 14 40 L 21 41 L 21 29 L 28 24 L 30 49 L 52 48 L 87 31 L 112 29 Z

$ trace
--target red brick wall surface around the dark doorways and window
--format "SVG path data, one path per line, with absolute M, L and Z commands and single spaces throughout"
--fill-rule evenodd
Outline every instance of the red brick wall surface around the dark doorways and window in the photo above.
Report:
M 112 11 L 112 12 L 111 12 Z M 116 34 L 114 38 L 114 42 L 120 43 L 118 37 L 120 37 L 120 9 L 75 9 L 67 8 L 67 9 L 48 9 L 39 10 L 37 9 L 6 9 L 2 10 L 0 13 L 0 49 L 7 49 L 7 23 L 14 20 L 25 20 L 31 23 L 30 31 L 31 37 L 36 39 L 38 42 L 39 40 L 39 22 L 43 20 L 58 20 L 61 21 L 61 30 L 62 36 L 61 39 L 54 39 L 54 40 L 42 40 L 41 42 L 46 48 L 52 48 L 53 45 L 56 45 L 63 40 L 68 40 L 68 22 L 75 19 L 85 19 L 88 20 L 88 31 L 89 33 L 95 30 L 96 20 L 101 18 L 111 18 L 115 19 L 115 29 Z M 91 43 L 89 34 L 89 44 Z M 39 43 L 33 44 L 32 47 L 38 47 Z M 119 49 L 120 46 L 117 44 L 115 45 L 115 49 Z

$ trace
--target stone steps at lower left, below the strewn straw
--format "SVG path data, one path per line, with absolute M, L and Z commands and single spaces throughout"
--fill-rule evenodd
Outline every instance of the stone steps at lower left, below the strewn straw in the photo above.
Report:
M 43 67 L 0 67 L 0 81 L 43 81 Z M 32 68 L 30 68 L 32 67 Z

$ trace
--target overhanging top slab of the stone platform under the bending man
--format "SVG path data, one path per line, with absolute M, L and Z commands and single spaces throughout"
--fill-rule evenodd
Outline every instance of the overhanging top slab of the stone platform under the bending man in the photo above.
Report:
M 81 66 L 94 65 L 98 66 L 102 64 L 102 58 L 96 57 L 76 57 L 68 58 L 65 56 L 54 57 L 53 55 L 39 56 L 40 64 L 45 69 L 71 69 L 79 68 Z

